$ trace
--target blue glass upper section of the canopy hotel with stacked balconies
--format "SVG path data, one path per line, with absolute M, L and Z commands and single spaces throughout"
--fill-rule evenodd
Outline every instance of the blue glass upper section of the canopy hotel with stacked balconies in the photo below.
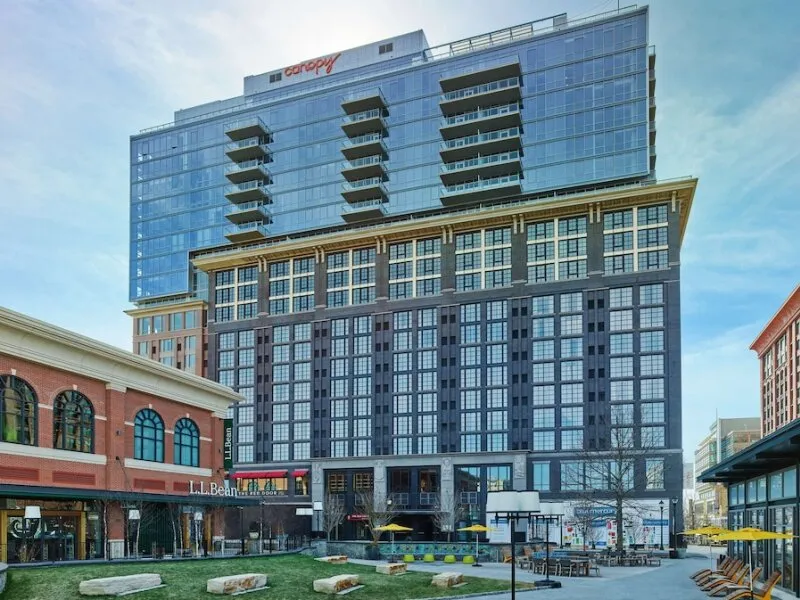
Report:
M 437 48 L 419 34 L 248 78 L 132 136 L 130 300 L 204 298 L 188 253 L 228 240 L 652 176 L 646 8 Z

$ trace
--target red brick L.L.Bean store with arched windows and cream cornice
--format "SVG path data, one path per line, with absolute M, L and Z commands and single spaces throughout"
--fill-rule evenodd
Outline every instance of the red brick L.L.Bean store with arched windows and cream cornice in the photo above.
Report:
M 0 562 L 223 539 L 229 388 L 0 308 Z

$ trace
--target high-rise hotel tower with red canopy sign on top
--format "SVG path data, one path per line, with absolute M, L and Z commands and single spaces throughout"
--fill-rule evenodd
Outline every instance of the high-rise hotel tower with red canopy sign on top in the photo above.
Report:
M 341 494 L 354 536 L 356 494 L 391 493 L 425 535 L 441 494 L 476 521 L 487 490 L 569 499 L 629 439 L 639 499 L 680 498 L 696 180 L 656 179 L 647 27 L 417 31 L 132 137 L 134 349 L 185 356 L 186 307 L 207 311 L 194 364 L 246 399 L 242 493 Z

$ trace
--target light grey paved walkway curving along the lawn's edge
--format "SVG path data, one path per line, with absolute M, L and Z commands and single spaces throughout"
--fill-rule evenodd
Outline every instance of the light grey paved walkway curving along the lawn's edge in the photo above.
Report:
M 378 561 L 351 560 L 354 563 L 378 564 Z M 689 575 L 706 568 L 709 560 L 686 558 L 682 560 L 663 560 L 660 567 L 600 567 L 600 577 L 551 577 L 561 581 L 562 587 L 556 590 L 538 590 L 535 600 L 707 600 L 689 579 Z M 470 577 L 490 579 L 511 579 L 511 566 L 508 564 L 486 563 L 480 568 L 460 563 L 411 563 L 413 571 L 442 572 L 458 571 Z M 532 583 L 543 578 L 542 575 L 517 569 L 517 581 Z M 469 587 L 469 586 L 467 586 Z M 469 593 L 464 588 L 464 593 Z M 477 597 L 476 597 L 477 598 Z M 508 600 L 511 594 L 481 596 L 479 600 Z M 534 598 L 530 593 L 520 593 L 519 598 Z

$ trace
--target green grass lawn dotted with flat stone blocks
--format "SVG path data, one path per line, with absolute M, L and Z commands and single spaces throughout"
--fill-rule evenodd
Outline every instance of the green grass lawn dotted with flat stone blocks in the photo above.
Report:
M 442 571 L 447 570 L 442 565 Z M 348 594 L 348 600 L 380 598 L 405 600 L 412 598 L 447 597 L 456 594 L 493 592 L 510 589 L 507 581 L 467 577 L 469 584 L 457 590 L 433 587 L 430 573 L 408 573 L 388 577 L 375 573 L 374 567 L 362 565 L 329 565 L 299 555 L 243 558 L 231 560 L 197 560 L 181 562 L 150 562 L 142 564 L 102 564 L 85 566 L 46 567 L 41 569 L 11 569 L 6 591 L 0 600 L 79 600 L 78 584 L 84 579 L 131 575 L 134 573 L 160 573 L 166 587 L 140 592 L 130 596 L 135 600 L 189 600 L 216 598 L 206 593 L 206 580 L 238 573 L 266 573 L 270 589 L 245 594 L 246 600 L 274 598 L 304 600 L 326 596 L 315 593 L 311 582 L 320 577 L 338 573 L 357 573 L 366 587 Z M 522 588 L 518 584 L 518 589 Z M 526 589 L 529 586 L 524 586 Z

